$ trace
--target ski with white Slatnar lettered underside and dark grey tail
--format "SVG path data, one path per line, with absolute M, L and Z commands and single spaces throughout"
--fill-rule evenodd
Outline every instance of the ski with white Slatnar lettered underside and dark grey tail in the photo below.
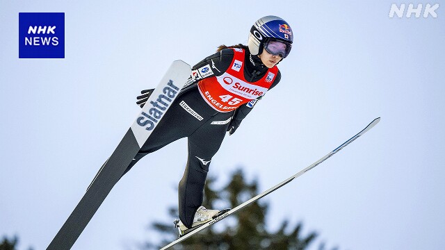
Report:
M 99 169 L 81 201 L 60 228 L 47 250 L 71 249 L 108 193 L 119 181 L 131 160 L 152 134 L 159 120 L 170 108 L 190 75 L 190 65 L 181 60 L 172 63 L 161 79 L 161 83 L 149 97 L 143 109 L 140 110 L 118 147 Z

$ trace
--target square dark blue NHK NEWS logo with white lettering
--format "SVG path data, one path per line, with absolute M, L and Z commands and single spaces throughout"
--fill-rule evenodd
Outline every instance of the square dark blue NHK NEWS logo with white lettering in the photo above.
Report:
M 19 13 L 19 58 L 65 58 L 65 13 Z

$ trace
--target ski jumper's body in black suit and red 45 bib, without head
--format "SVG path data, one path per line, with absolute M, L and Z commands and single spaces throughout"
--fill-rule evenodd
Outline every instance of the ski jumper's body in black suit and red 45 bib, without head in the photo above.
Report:
M 223 49 L 193 67 L 194 80 L 154 129 L 127 171 L 140 158 L 180 138 L 188 139 L 188 159 L 179 182 L 179 219 L 188 228 L 202 205 L 211 158 L 220 148 L 231 122 L 241 122 L 264 94 L 280 81 L 244 49 Z

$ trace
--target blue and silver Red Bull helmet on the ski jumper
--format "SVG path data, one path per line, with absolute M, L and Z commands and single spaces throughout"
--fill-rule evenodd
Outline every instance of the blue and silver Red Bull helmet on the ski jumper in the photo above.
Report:
M 261 17 L 250 28 L 248 47 L 252 55 L 259 55 L 263 52 L 264 44 L 270 40 L 278 40 L 286 44 L 286 53 L 282 58 L 286 58 L 292 48 L 293 33 L 291 26 L 284 19 L 275 16 Z

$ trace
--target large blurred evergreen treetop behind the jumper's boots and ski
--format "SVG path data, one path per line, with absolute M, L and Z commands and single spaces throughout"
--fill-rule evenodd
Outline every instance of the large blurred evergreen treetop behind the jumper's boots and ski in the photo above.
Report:
M 238 204 L 247 201 L 258 194 L 258 184 L 254 180 L 250 183 L 245 180 L 241 169 L 232 174 L 231 181 L 223 188 L 213 189 L 215 178 L 209 177 L 204 190 L 204 206 L 209 208 L 221 208 L 221 204 L 227 204 L 234 208 Z M 290 226 L 289 221 L 284 220 L 276 232 L 266 230 L 266 213 L 268 203 L 254 202 L 239 210 L 207 229 L 203 233 L 197 233 L 193 237 L 172 247 L 173 250 L 251 250 L 251 249 L 307 249 L 316 238 L 316 233 L 301 235 L 302 224 Z M 177 209 L 170 208 L 170 215 L 177 217 Z M 152 228 L 159 232 L 161 242 L 155 244 L 147 242 L 144 249 L 159 249 L 175 240 L 178 235 L 177 228 L 172 223 L 164 224 L 155 222 Z

